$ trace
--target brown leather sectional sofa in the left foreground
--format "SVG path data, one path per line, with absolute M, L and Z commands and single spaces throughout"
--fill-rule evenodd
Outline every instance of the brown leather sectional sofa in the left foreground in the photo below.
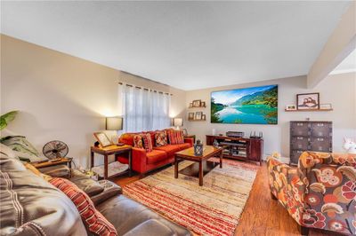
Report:
M 90 235 L 64 193 L 4 153 L 0 153 L 0 167 L 0 235 Z M 109 181 L 95 182 L 78 171 L 70 180 L 91 197 L 118 235 L 191 235 L 126 198 L 121 188 Z

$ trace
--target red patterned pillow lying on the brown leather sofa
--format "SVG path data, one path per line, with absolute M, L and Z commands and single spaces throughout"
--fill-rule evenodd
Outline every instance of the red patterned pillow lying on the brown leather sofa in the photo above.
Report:
M 93 201 L 90 200 L 77 185 L 71 183 L 68 179 L 61 177 L 53 177 L 50 183 L 65 193 L 74 205 L 76 205 L 83 222 L 90 232 L 95 235 L 117 235 L 115 227 L 101 215 L 101 213 L 94 207 Z

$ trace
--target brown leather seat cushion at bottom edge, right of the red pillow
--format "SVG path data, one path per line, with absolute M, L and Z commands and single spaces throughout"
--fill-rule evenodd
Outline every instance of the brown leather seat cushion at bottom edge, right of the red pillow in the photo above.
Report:
M 182 226 L 158 216 L 149 208 L 124 195 L 104 201 L 96 208 L 115 226 L 118 235 L 191 235 Z M 150 226 L 149 234 L 147 233 L 148 226 Z M 131 230 L 134 230 L 134 234 Z

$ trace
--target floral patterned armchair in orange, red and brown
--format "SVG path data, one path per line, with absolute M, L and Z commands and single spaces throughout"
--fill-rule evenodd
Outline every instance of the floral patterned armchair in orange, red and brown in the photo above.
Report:
M 309 228 L 356 234 L 356 154 L 304 152 L 298 167 L 269 157 L 271 196 L 303 235 Z

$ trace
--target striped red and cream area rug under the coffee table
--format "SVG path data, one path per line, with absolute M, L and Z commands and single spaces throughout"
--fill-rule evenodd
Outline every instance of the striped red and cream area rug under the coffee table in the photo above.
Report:
M 218 161 L 214 159 L 214 161 Z M 182 161 L 179 169 L 192 164 Z M 124 194 L 199 235 L 233 235 L 245 207 L 259 166 L 242 161 L 223 161 L 204 177 L 182 174 L 174 167 L 124 187 Z

